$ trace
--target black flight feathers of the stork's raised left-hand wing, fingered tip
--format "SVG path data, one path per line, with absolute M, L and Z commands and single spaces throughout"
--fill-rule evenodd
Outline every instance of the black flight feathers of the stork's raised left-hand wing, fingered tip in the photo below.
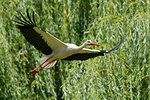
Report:
M 29 12 L 27 9 L 27 18 L 26 19 L 22 13 L 20 13 L 22 19 L 16 16 L 18 21 L 14 21 L 18 23 L 16 26 L 20 29 L 23 36 L 26 38 L 28 42 L 30 42 L 36 49 L 40 50 L 42 53 L 48 55 L 52 53 L 52 49 L 48 46 L 48 44 L 42 39 L 42 36 L 38 34 L 33 27 L 37 27 L 34 20 L 34 12 L 33 19 L 29 16 Z

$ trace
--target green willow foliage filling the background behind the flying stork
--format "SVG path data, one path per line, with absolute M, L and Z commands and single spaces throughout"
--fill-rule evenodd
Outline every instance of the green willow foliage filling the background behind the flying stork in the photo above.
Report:
M 143 99 L 150 97 L 148 0 L 1 0 L 0 99 Z M 35 76 L 45 56 L 16 28 L 15 15 L 35 11 L 37 25 L 64 42 L 90 39 L 119 50 L 87 61 L 58 61 Z

